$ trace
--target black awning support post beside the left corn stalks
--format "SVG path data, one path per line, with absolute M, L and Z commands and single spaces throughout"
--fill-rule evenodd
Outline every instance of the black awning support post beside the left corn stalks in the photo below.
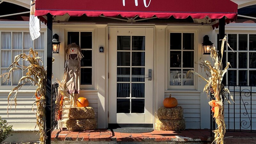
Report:
M 46 144 L 51 144 L 52 127 L 52 15 L 47 14 Z

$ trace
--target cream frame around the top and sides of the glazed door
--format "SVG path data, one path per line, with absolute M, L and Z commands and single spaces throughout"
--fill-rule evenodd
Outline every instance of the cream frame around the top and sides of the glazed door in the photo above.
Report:
M 108 69 L 108 75 L 109 76 L 109 28 L 110 27 L 119 27 L 119 28 L 153 28 L 153 77 L 155 78 L 156 77 L 156 74 L 155 74 L 155 25 L 146 25 L 146 26 L 141 26 L 141 25 L 108 25 L 107 26 L 107 69 Z M 152 108 L 153 108 L 153 128 L 155 127 L 155 79 L 153 78 L 153 103 L 152 103 Z M 107 92 L 106 92 L 106 109 L 107 111 L 105 112 L 106 115 L 107 115 L 107 118 L 106 118 L 106 123 L 107 123 L 107 128 L 109 127 L 109 124 L 108 124 L 108 111 L 109 111 L 109 78 L 107 77 Z

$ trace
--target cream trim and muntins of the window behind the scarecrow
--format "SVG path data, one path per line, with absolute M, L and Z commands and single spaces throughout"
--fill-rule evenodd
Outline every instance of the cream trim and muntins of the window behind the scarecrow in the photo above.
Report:
M 81 67 L 81 68 L 92 68 L 92 84 L 80 84 L 80 91 L 83 90 L 92 90 L 94 89 L 95 85 L 95 29 L 65 29 L 65 48 L 67 47 L 68 42 L 68 32 L 79 32 L 79 46 L 81 45 L 80 35 L 81 32 L 92 32 L 92 49 L 82 49 L 82 50 L 92 50 L 92 67 Z M 65 53 L 65 60 L 66 60 L 66 53 Z M 65 61 L 64 60 L 64 61 Z M 65 62 L 64 62 L 65 64 Z M 81 73 L 80 73 L 81 74 Z M 80 76 L 81 78 L 81 76 Z

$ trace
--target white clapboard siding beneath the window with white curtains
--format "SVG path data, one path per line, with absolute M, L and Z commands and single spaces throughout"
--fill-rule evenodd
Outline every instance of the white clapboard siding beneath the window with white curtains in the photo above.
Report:
M 7 115 L 8 94 L 9 92 L 0 92 L 0 116 L 2 119 L 7 120 L 8 124 L 13 125 L 12 129 L 14 130 L 34 130 L 36 126 L 36 115 L 32 110 L 32 105 L 36 100 L 34 97 L 35 92 L 19 92 L 17 94 L 16 109 L 13 102 L 12 108 L 9 108 L 10 111 Z

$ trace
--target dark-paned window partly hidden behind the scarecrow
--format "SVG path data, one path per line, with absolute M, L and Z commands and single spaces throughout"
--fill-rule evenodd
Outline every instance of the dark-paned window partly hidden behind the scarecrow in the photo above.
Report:
M 93 89 L 93 30 L 68 31 L 67 44 L 76 43 L 81 47 L 84 58 L 81 60 L 80 89 Z

